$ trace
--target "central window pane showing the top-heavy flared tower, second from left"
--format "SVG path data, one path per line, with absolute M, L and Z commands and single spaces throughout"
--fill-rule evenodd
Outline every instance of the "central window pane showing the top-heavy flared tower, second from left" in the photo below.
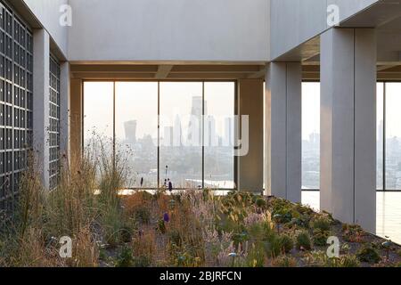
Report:
M 116 143 L 127 159 L 126 187 L 157 187 L 157 82 L 116 82 Z

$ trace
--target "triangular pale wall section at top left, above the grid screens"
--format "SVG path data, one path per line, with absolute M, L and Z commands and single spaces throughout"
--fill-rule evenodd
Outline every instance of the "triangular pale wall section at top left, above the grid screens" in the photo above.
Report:
M 69 0 L 23 0 L 29 10 L 53 38 L 61 53 L 67 57 L 68 50 L 68 28 L 61 27 L 59 19 L 60 7 L 68 4 Z

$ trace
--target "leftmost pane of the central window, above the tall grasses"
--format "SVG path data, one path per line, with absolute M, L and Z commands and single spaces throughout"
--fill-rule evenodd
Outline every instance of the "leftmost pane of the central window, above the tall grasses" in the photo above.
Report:
M 84 83 L 84 143 L 95 153 L 112 155 L 113 141 L 112 82 Z

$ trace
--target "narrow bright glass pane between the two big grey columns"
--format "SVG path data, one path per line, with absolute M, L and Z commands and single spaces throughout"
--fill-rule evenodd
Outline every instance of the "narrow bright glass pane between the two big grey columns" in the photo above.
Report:
M 320 83 L 302 83 L 302 189 L 320 188 Z

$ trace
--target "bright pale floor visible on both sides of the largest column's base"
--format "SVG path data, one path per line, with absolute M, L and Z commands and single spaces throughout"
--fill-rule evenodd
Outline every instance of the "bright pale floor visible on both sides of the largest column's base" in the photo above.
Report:
M 401 192 L 377 192 L 376 233 L 401 244 Z M 320 208 L 319 191 L 302 191 L 302 203 Z

